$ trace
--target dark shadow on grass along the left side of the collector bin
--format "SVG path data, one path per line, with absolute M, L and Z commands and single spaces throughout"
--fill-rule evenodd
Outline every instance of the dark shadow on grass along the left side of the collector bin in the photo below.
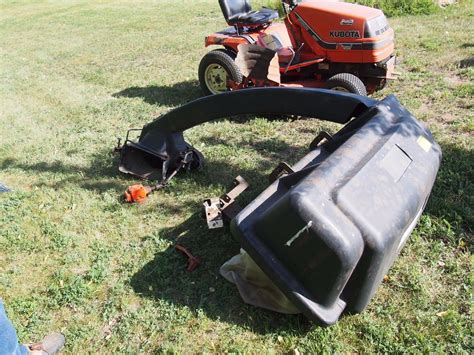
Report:
M 211 146 L 226 144 L 214 137 L 204 138 L 204 143 Z M 242 169 L 226 160 L 212 160 L 201 172 L 185 175 L 184 179 L 192 179 L 200 186 L 227 186 L 235 176 L 241 175 L 250 184 L 238 201 L 245 206 L 268 185 L 269 170 L 280 161 L 292 159 L 295 155 L 303 156 L 307 150 L 281 140 L 258 142 L 252 147 L 263 158 L 256 169 Z M 200 211 L 176 227 L 161 230 L 159 237 L 184 245 L 201 259 L 202 264 L 192 273 L 188 272 L 187 259 L 170 247 L 157 253 L 132 276 L 130 284 L 136 293 L 187 306 L 195 312 L 203 311 L 214 320 L 238 324 L 261 334 L 275 331 L 301 334 L 311 329 L 312 325 L 302 315 L 282 315 L 242 302 L 236 286 L 219 275 L 220 266 L 239 252 L 239 243 L 228 228 L 208 230 Z

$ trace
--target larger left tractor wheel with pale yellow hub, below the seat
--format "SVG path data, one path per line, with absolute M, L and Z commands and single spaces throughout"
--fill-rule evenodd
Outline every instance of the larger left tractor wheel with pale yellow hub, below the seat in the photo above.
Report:
M 235 65 L 235 53 L 227 49 L 216 49 L 207 53 L 199 64 L 199 83 L 206 95 L 226 92 L 227 79 L 242 82 L 242 73 Z

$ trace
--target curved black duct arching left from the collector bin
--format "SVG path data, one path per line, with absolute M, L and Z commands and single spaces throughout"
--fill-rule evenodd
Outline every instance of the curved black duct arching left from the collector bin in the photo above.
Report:
M 294 115 L 345 124 L 376 103 L 367 97 L 333 90 L 281 87 L 203 97 L 145 125 L 136 142 L 127 134 L 119 169 L 141 178 L 164 178 L 189 151 L 194 159 L 188 167 L 200 166 L 202 155 L 186 143 L 183 132 L 212 120 L 237 115 Z

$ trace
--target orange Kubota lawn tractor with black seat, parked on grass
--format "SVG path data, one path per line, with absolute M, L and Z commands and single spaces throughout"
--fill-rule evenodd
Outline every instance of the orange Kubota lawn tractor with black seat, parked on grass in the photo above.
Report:
M 281 23 L 272 22 L 276 10 L 253 11 L 248 0 L 219 4 L 231 27 L 205 39 L 206 47 L 223 47 L 207 53 L 199 65 L 206 94 L 293 86 L 367 95 L 393 78 L 394 32 L 381 10 L 338 0 L 282 0 Z M 248 68 L 262 56 L 267 57 L 264 80 L 261 71 L 252 76 Z

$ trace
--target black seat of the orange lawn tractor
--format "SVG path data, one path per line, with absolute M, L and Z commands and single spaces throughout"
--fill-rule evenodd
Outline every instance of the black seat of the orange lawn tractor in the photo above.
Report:
M 278 18 L 278 11 L 262 8 L 252 11 L 248 0 L 219 0 L 224 18 L 230 26 L 258 26 Z

